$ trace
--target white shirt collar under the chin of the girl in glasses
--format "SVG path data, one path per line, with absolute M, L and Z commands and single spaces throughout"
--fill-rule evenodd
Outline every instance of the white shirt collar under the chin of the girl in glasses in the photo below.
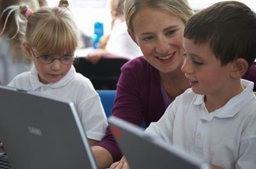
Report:
M 36 90 L 42 86 L 48 86 L 51 88 L 59 88 L 59 87 L 65 86 L 67 83 L 69 83 L 70 80 L 72 80 L 74 78 L 75 74 L 76 74 L 76 70 L 74 69 L 74 67 L 72 65 L 69 72 L 67 72 L 67 74 L 61 80 L 59 80 L 56 83 L 44 84 L 44 83 L 40 82 L 40 80 L 38 78 L 37 69 L 35 69 L 35 67 L 33 66 L 33 68 L 30 71 L 30 83 L 32 86 L 32 90 Z

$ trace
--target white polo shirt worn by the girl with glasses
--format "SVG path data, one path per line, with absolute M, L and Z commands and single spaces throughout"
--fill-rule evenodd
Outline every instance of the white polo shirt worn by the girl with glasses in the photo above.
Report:
M 105 135 L 108 123 L 99 95 L 90 80 L 77 73 L 73 65 L 70 71 L 56 83 L 41 83 L 38 72 L 33 67 L 30 72 L 17 75 L 8 86 L 73 101 L 87 138 L 100 141 Z

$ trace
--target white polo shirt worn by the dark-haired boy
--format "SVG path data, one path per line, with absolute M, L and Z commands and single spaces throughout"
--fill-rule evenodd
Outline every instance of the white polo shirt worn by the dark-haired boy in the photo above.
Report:
M 221 168 L 256 166 L 256 98 L 253 82 L 224 106 L 209 113 L 204 95 L 187 89 L 158 122 L 145 130 Z

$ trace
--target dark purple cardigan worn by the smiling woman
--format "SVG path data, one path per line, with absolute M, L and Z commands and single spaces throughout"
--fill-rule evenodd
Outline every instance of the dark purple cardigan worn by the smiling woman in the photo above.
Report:
M 141 125 L 143 119 L 146 127 L 151 122 L 158 121 L 165 112 L 165 104 L 168 102 L 168 98 L 161 90 L 159 71 L 152 67 L 143 56 L 127 62 L 121 71 L 112 115 L 138 126 Z M 256 63 L 248 69 L 243 78 L 256 83 L 255 72 Z M 172 100 L 169 100 L 170 102 Z M 109 128 L 106 130 L 105 137 L 97 145 L 107 149 L 114 162 L 122 157 Z

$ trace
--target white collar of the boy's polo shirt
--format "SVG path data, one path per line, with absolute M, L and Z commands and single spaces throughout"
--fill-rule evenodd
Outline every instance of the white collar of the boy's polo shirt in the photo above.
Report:
M 224 106 L 212 112 L 214 116 L 219 118 L 233 117 L 247 102 L 255 98 L 253 93 L 254 83 L 241 79 L 241 84 L 245 89 L 232 97 Z M 204 105 L 204 95 L 196 95 L 194 105 Z

